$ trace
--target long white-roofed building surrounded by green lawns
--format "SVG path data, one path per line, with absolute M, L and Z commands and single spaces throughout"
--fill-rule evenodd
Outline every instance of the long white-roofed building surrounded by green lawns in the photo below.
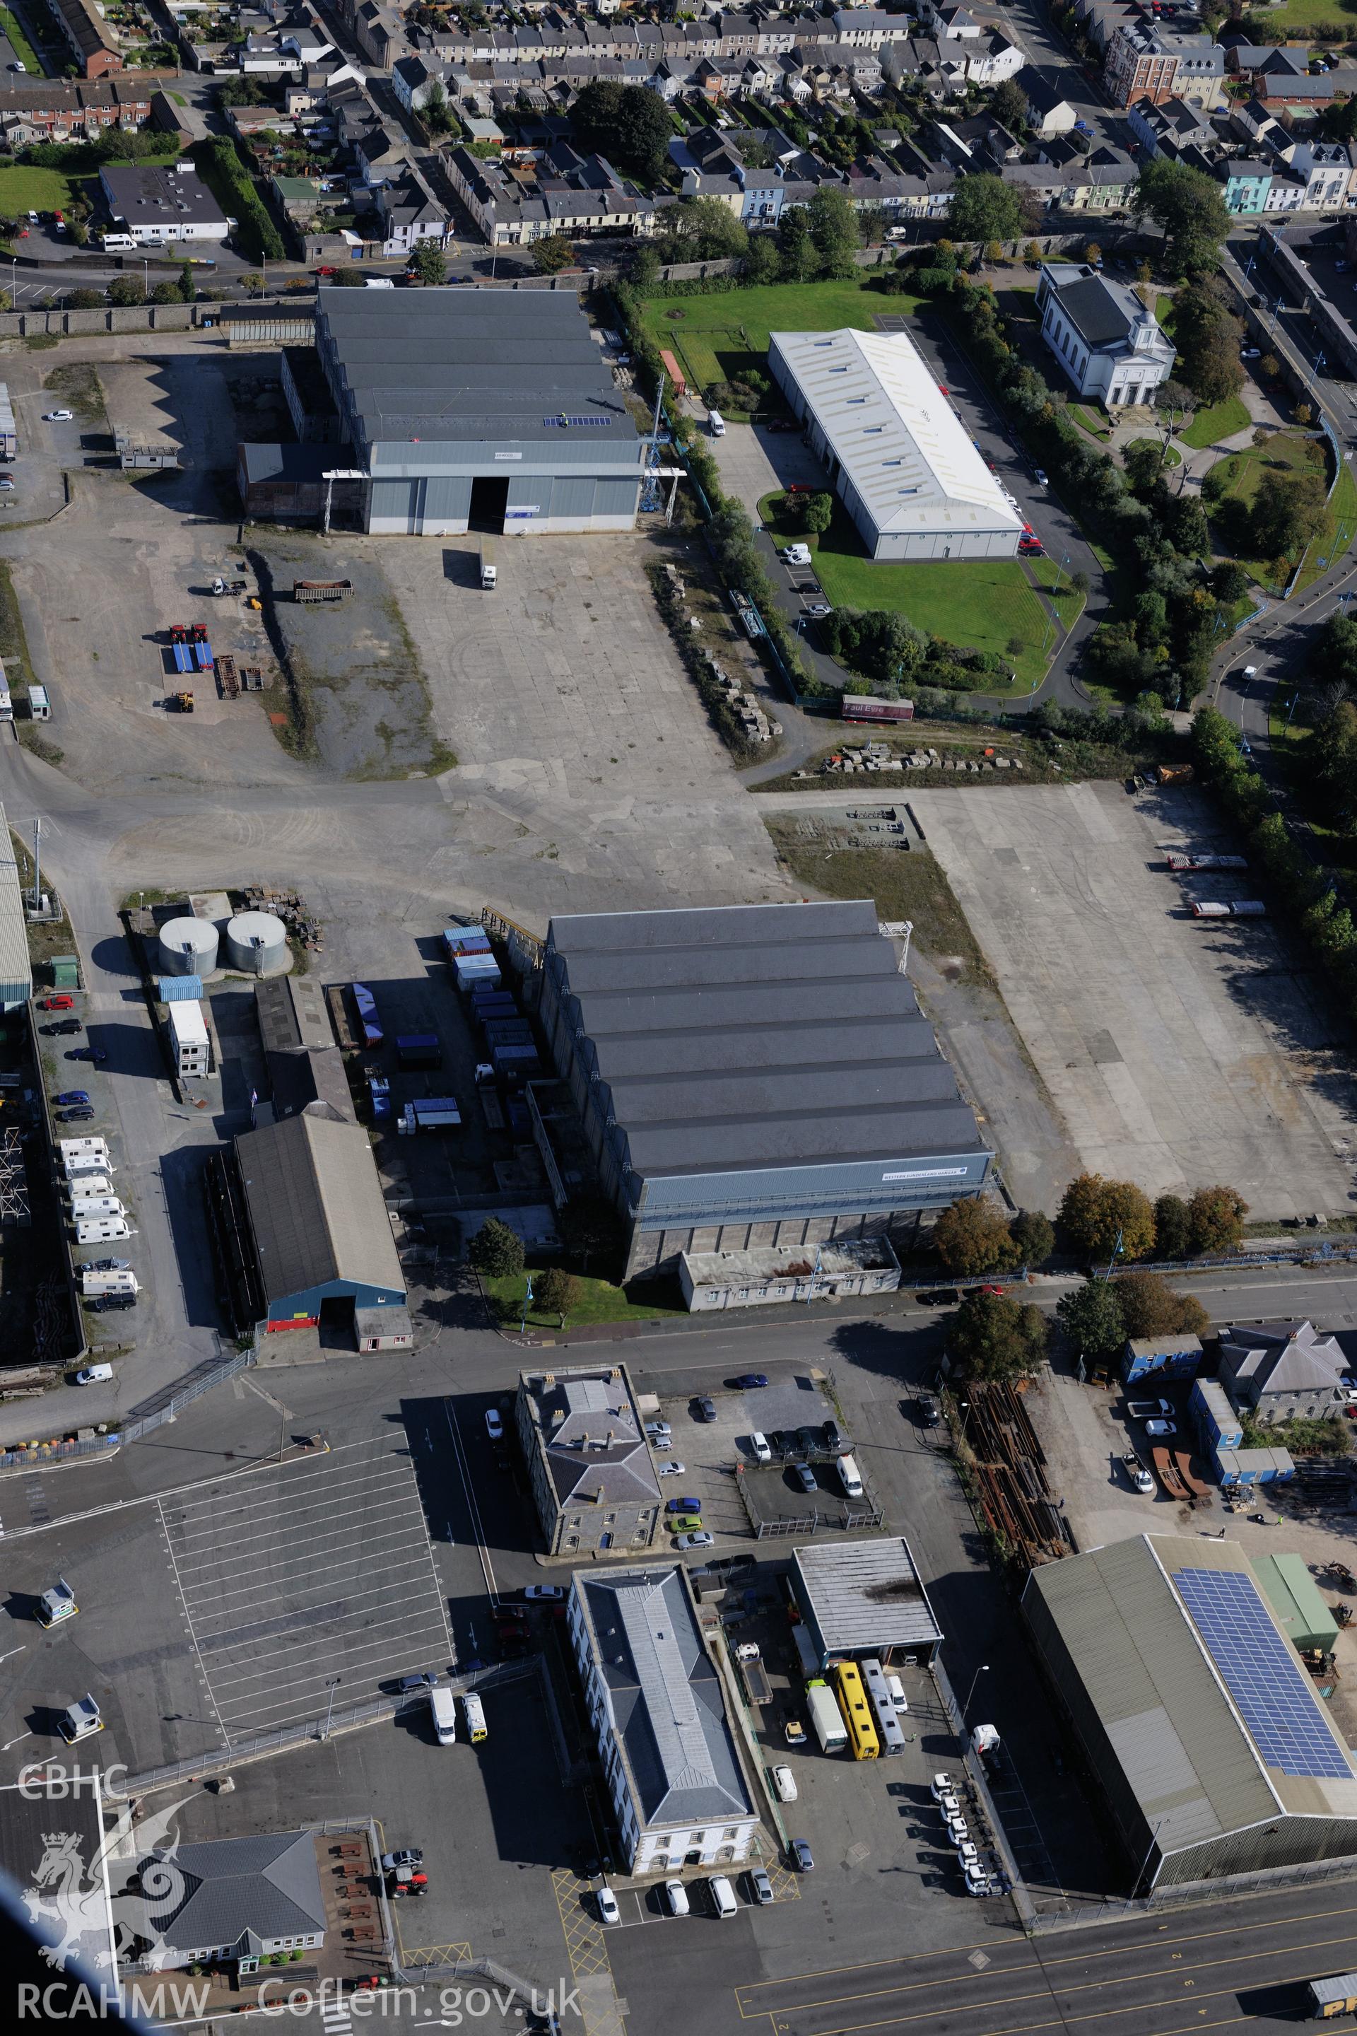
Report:
M 903 332 L 773 332 L 769 369 L 873 558 L 1011 558 L 1023 519 Z

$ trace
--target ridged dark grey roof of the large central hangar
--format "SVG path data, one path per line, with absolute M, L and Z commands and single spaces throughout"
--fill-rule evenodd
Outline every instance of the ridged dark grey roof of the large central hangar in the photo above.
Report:
M 871 900 L 553 918 L 639 1175 L 985 1152 Z

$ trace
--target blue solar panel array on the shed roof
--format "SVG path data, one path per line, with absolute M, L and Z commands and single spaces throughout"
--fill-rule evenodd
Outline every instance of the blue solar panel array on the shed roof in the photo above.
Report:
M 1251 1578 L 1235 1570 L 1176 1570 L 1174 1584 L 1267 1767 L 1351 1782 L 1351 1763 L 1324 1729 L 1304 1670 Z

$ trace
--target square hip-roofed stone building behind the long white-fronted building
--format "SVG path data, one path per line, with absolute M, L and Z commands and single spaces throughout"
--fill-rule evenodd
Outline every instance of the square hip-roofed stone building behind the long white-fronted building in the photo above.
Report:
M 623 1364 L 521 1372 L 517 1423 L 551 1556 L 655 1541 L 659 1484 Z

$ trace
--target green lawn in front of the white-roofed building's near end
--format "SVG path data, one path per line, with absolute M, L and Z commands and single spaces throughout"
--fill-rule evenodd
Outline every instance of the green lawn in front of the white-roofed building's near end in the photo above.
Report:
M 893 609 L 944 643 L 993 652 L 1017 676 L 987 680 L 981 688 L 987 696 L 1021 698 L 1042 684 L 1054 649 L 1054 641 L 1046 643 L 1052 627 L 1021 560 L 869 558 L 842 505 L 834 505 L 834 521 L 820 538 L 808 538 L 779 517 L 781 501 L 781 495 L 765 495 L 759 503 L 769 538 L 779 550 L 810 546 L 820 586 L 836 609 Z M 1050 576 L 1054 580 L 1054 566 Z M 1011 643 L 1021 647 L 1009 649 Z

